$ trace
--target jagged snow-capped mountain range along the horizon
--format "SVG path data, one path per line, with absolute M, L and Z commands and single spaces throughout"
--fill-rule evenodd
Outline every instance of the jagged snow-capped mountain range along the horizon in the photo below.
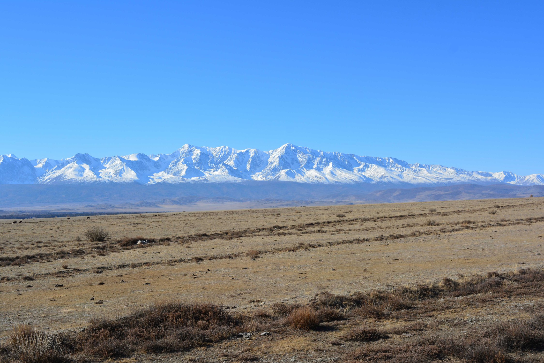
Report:
M 184 181 L 233 182 L 276 180 L 300 183 L 384 183 L 448 185 L 509 183 L 544 185 L 543 174 L 519 176 L 442 165 L 409 164 L 395 158 L 324 152 L 285 144 L 278 149 L 236 150 L 232 147 L 183 145 L 170 154 L 141 153 L 95 158 L 78 153 L 67 159 L 0 156 L 0 184 Z

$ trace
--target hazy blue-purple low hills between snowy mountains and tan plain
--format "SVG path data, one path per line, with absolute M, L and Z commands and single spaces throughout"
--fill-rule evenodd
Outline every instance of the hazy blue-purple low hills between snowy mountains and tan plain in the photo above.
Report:
M 310 184 L 281 181 L 183 184 L 90 183 L 0 184 L 4 214 L 14 210 L 189 211 L 304 205 L 368 204 L 435 200 L 544 196 L 544 186 L 455 184 L 438 187 L 380 188 L 379 184 Z

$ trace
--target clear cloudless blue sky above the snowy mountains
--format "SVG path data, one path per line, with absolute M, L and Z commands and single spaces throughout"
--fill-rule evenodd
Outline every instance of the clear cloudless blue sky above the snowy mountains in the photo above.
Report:
M 544 173 L 544 2 L 3 1 L 0 154 L 291 142 Z

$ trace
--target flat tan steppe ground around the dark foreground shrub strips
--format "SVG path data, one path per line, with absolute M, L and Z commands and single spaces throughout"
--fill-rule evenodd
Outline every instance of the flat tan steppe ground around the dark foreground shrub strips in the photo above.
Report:
M 88 241 L 84 232 L 92 226 L 110 238 Z M 255 313 L 275 303 L 307 304 L 323 291 L 349 296 L 459 274 L 540 268 L 543 226 L 544 198 L 0 220 L 0 334 L 28 323 L 79 331 L 91 318 L 171 300 Z M 150 243 L 136 245 L 139 239 Z M 378 327 L 390 331 L 388 344 L 448 329 L 465 334 L 544 311 L 539 290 L 531 291 L 448 297 L 443 309 L 425 311 L 420 303 L 410 317 L 349 317 L 324 323 L 326 329 L 253 331 L 250 340 L 118 359 L 379 361 L 353 353 L 362 343 L 343 341 L 345 332 Z M 410 329 L 414 323 L 419 328 Z

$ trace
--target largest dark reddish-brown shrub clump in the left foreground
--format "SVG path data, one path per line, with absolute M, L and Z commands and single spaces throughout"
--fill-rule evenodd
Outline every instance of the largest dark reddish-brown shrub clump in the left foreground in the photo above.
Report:
M 125 317 L 94 319 L 78 336 L 78 344 L 84 353 L 102 358 L 136 350 L 176 352 L 227 339 L 243 323 L 220 305 L 156 304 Z

